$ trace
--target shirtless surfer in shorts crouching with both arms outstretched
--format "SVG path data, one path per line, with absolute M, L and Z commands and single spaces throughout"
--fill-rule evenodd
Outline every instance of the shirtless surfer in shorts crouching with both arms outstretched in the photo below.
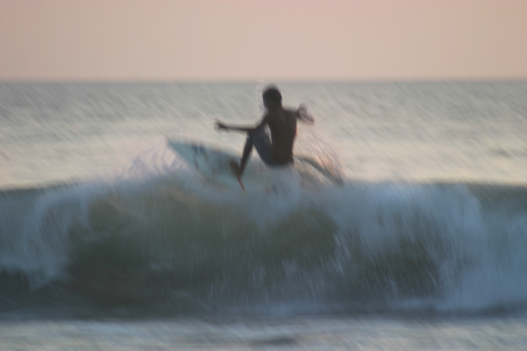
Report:
M 267 113 L 257 126 L 233 126 L 216 121 L 218 131 L 247 132 L 247 141 L 243 148 L 240 164 L 238 165 L 235 161 L 231 162 L 232 171 L 237 177 L 243 174 L 243 169 L 245 169 L 253 146 L 258 151 L 262 161 L 269 166 L 292 164 L 297 119 L 314 123 L 313 118 L 307 115 L 305 106 L 300 105 L 297 111 L 283 108 L 282 95 L 277 87 L 268 86 L 262 96 Z M 266 125 L 271 131 L 270 139 L 264 129 Z

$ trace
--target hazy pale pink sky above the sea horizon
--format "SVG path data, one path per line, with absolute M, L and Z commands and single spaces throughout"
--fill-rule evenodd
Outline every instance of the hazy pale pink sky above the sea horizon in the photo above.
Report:
M 0 79 L 526 79 L 527 0 L 0 0 Z

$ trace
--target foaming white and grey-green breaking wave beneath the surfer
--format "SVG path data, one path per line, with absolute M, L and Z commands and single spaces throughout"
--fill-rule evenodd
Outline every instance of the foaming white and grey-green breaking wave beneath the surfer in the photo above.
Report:
M 305 166 L 249 196 L 169 154 L 113 182 L 0 193 L 0 305 L 50 286 L 190 312 L 527 302 L 525 187 L 335 184 Z

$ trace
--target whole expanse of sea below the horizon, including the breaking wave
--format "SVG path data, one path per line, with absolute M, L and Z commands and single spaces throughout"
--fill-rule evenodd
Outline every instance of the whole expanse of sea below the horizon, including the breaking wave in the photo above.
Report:
M 525 349 L 527 82 L 278 83 L 269 194 L 167 145 L 264 86 L 0 83 L 0 350 Z

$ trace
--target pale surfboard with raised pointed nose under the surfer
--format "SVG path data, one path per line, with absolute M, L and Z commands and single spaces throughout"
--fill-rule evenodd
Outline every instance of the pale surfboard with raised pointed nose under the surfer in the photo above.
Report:
M 249 160 L 245 172 L 239 178 L 232 171 L 230 163 L 239 163 L 240 156 L 200 143 L 184 143 L 168 138 L 167 141 L 191 168 L 214 183 L 247 192 L 269 192 L 269 189 L 272 189 L 272 176 L 262 163 Z

